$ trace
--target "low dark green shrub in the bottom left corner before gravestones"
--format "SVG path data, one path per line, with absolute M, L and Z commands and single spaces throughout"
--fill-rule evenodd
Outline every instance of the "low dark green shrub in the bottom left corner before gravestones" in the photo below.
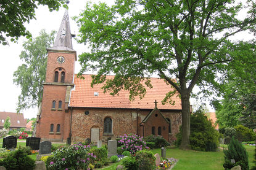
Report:
M 9 153 L 9 155 L 0 161 L 0 165 L 7 170 L 33 169 L 35 160 L 31 159 L 24 150 L 18 149 Z

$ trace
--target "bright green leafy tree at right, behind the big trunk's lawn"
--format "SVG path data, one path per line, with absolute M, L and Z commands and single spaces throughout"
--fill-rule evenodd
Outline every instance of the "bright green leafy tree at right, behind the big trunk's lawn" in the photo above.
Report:
M 250 98 L 252 97 L 250 94 L 256 94 L 255 42 L 240 43 L 237 49 L 236 55 L 246 58 L 246 62 L 232 62 L 227 66 L 218 88 L 218 95 L 223 99 L 213 101 L 218 123 L 223 127 L 240 125 L 239 118 L 247 105 L 244 102 L 252 102 L 253 98 Z

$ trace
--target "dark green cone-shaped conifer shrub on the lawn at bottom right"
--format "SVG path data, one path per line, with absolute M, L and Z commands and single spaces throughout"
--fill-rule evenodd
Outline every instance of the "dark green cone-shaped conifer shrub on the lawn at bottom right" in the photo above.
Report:
M 249 170 L 248 154 L 242 144 L 232 137 L 231 142 L 228 145 L 228 150 L 223 150 L 225 162 L 223 167 L 225 169 L 231 169 L 236 165 L 240 165 L 242 170 Z M 231 163 L 231 159 L 235 163 Z

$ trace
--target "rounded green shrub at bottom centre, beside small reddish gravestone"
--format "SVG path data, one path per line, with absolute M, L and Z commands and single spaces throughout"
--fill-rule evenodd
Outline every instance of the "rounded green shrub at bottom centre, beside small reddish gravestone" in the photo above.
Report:
M 135 160 L 140 170 L 153 170 L 155 169 L 155 156 L 151 150 L 140 150 L 135 155 Z

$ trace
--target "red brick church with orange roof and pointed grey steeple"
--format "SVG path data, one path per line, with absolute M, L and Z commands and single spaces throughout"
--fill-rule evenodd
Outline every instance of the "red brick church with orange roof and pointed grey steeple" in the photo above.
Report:
M 111 96 L 102 85 L 91 87 L 91 75 L 84 79 L 74 74 L 76 51 L 67 11 L 60 24 L 53 47 L 47 49 L 46 81 L 43 101 L 36 120 L 36 137 L 47 141 L 92 142 L 115 139 L 123 134 L 162 135 L 175 140 L 181 125 L 181 99 L 172 97 L 175 105 L 162 105 L 171 91 L 162 79 L 151 78 L 153 88 L 146 88 L 143 99 L 129 100 L 129 91 Z M 114 76 L 108 76 L 108 79 Z

